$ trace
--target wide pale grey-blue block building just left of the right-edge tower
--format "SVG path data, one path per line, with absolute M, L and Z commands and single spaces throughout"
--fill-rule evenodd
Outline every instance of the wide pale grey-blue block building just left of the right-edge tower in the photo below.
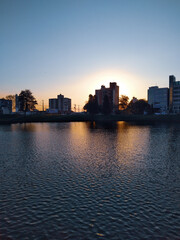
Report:
M 169 89 L 157 86 L 150 87 L 148 89 L 148 103 L 156 112 L 166 113 L 169 105 Z

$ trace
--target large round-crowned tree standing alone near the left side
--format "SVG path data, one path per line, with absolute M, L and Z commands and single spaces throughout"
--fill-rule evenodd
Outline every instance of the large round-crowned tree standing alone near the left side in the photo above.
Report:
M 24 91 L 21 91 L 21 93 L 19 94 L 20 111 L 33 111 L 36 109 L 36 104 L 37 101 L 30 90 L 26 89 Z

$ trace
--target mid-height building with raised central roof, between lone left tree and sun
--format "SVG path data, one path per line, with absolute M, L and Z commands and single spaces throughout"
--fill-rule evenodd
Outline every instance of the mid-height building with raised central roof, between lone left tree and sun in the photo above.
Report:
M 58 95 L 57 98 L 49 99 L 49 112 L 70 113 L 71 99 L 65 98 L 64 95 Z

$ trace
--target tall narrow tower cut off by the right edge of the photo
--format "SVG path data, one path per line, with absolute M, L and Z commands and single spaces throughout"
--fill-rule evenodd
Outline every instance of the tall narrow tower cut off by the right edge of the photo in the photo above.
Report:
M 180 81 L 174 75 L 169 76 L 169 112 L 180 113 Z

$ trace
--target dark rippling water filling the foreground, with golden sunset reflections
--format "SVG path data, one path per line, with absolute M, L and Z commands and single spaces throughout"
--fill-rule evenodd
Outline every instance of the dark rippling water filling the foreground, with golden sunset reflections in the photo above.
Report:
M 180 239 L 180 126 L 0 126 L 0 239 Z

